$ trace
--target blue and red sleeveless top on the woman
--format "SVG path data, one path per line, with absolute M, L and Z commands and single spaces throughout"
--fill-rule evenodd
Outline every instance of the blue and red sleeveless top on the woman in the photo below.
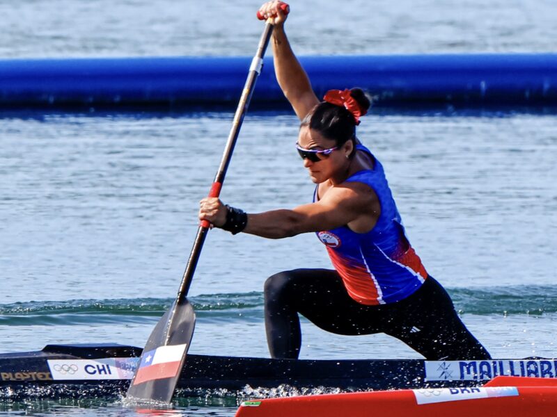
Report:
M 372 188 L 381 204 L 381 214 L 367 233 L 343 226 L 320 231 L 317 237 L 327 247 L 352 299 L 366 305 L 397 302 L 420 288 L 427 272 L 406 238 L 383 166 L 365 146 L 356 145 L 356 149 L 368 153 L 375 165 L 372 170 L 356 172 L 346 182 L 361 182 Z M 317 188 L 313 196 L 316 200 Z

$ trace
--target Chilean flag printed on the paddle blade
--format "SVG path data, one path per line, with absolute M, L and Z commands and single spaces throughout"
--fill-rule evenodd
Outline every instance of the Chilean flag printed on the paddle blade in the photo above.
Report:
M 143 354 L 134 379 L 134 385 L 153 379 L 171 378 L 180 372 L 180 362 L 187 343 L 160 346 Z

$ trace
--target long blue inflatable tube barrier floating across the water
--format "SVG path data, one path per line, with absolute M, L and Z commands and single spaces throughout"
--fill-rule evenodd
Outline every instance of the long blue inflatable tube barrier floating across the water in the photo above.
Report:
M 557 54 L 305 56 L 313 88 L 358 86 L 375 106 L 555 106 Z M 2 108 L 230 108 L 251 58 L 0 60 Z M 285 108 L 265 59 L 251 108 Z

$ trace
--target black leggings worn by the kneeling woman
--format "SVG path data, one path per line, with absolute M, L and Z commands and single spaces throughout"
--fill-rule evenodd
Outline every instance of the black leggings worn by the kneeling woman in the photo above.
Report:
M 490 358 L 433 277 L 404 300 L 366 306 L 352 300 L 335 270 L 299 269 L 273 275 L 265 282 L 265 328 L 272 357 L 297 359 L 298 313 L 335 334 L 389 334 L 428 360 Z

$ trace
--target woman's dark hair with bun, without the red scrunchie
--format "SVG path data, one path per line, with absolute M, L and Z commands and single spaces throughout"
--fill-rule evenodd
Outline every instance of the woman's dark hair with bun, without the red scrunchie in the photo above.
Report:
M 362 113 L 368 111 L 371 101 L 361 88 L 352 88 L 350 96 L 358 102 Z M 328 101 L 321 101 L 311 109 L 301 121 L 300 129 L 304 126 L 321 133 L 327 139 L 334 140 L 337 146 L 344 145 L 356 135 L 354 115 L 344 106 L 337 106 Z

